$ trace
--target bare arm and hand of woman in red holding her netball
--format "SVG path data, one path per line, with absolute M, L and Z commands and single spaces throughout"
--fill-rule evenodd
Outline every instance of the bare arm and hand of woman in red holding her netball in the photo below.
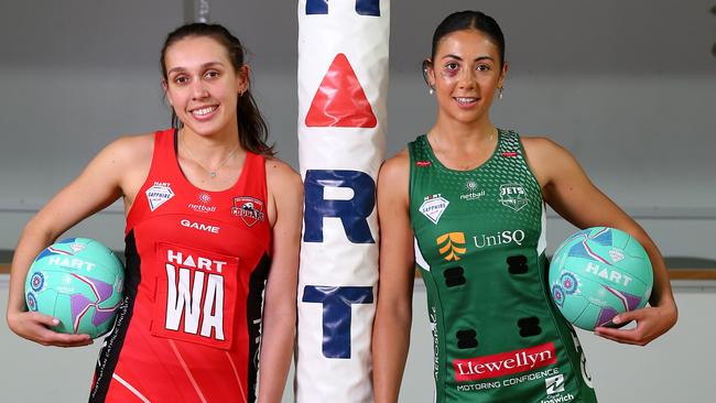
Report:
M 91 345 L 88 335 L 54 331 L 52 327 L 58 324 L 56 318 L 28 312 L 24 292 L 28 271 L 37 254 L 75 224 L 119 197 L 133 199 L 144 181 L 142 175 L 147 175 L 151 164 L 153 139 L 153 134 L 144 134 L 112 142 L 28 222 L 14 250 L 10 270 L 7 320 L 18 336 L 43 346 Z

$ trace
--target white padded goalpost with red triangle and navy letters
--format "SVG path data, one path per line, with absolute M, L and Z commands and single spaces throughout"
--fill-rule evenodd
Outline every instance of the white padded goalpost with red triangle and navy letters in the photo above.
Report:
M 296 401 L 370 402 L 389 1 L 301 0 L 297 11 L 305 211 Z

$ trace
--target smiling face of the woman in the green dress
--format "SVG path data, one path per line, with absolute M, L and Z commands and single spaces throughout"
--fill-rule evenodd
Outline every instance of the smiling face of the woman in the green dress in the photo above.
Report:
M 489 119 L 507 64 L 500 65 L 500 50 L 489 36 L 467 29 L 443 36 L 426 73 L 435 89 L 438 119 L 470 124 Z

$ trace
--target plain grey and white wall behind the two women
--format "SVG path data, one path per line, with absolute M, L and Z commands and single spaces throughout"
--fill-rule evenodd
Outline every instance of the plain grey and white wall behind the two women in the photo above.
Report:
M 214 19 L 251 50 L 256 96 L 271 137 L 280 156 L 297 166 L 294 3 L 210 4 Z M 664 254 L 716 259 L 713 6 L 712 0 L 393 1 L 389 154 L 434 120 L 420 74 L 433 28 L 448 11 L 480 7 L 502 24 L 510 59 L 493 121 L 569 149 Z M 0 18 L 0 249 L 12 249 L 31 215 L 101 146 L 122 133 L 169 124 L 158 57 L 163 36 L 183 15 L 180 2 L 171 0 L 67 0 L 3 1 Z M 122 229 L 116 206 L 70 233 L 121 249 Z M 552 250 L 572 230 L 550 219 Z M 4 281 L 0 276 L 0 312 Z M 405 402 L 432 395 L 423 294 L 417 287 Z M 705 358 L 715 356 L 709 307 L 716 293 L 679 288 L 676 296 L 677 327 L 647 348 L 582 337 L 601 401 L 713 400 Z M 0 326 L 0 400 L 85 400 L 96 349 L 43 348 Z

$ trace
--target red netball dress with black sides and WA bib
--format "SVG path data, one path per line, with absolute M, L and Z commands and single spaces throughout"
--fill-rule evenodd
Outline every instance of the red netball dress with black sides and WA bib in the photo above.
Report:
M 175 131 L 156 132 L 90 402 L 254 401 L 270 230 L 262 156 L 247 152 L 229 189 L 203 190 L 180 170 Z

